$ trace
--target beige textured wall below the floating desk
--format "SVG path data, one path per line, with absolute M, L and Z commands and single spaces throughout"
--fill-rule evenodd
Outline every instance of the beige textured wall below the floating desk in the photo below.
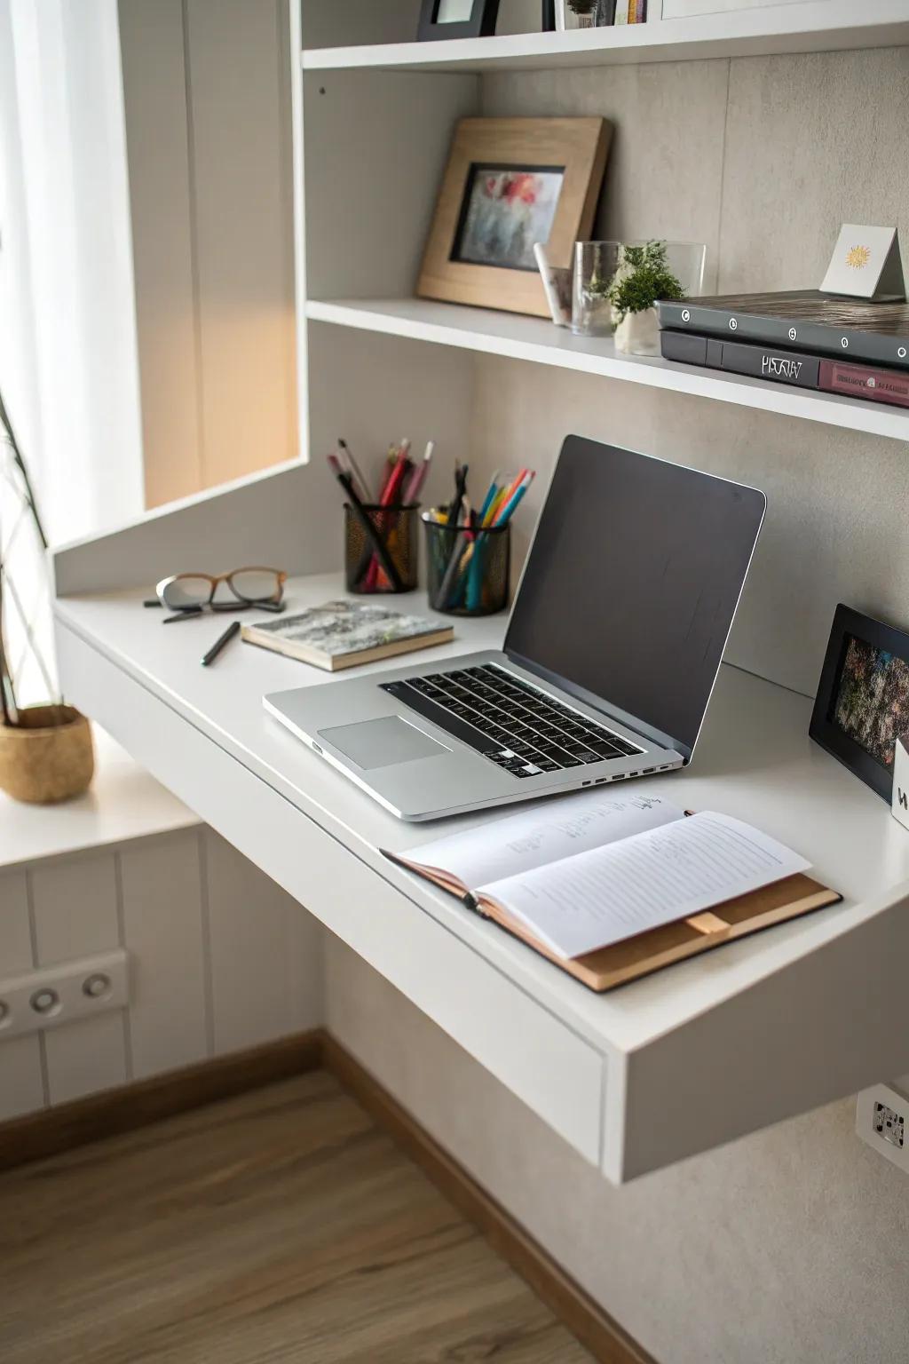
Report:
M 337 938 L 326 988 L 338 1039 L 660 1364 L 905 1360 L 909 1181 L 852 1099 L 616 1189 Z

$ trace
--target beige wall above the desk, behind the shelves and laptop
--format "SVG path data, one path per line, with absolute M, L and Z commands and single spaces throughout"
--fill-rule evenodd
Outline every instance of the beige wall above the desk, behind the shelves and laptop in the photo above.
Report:
M 815 288 L 842 221 L 909 243 L 909 48 L 493 74 L 488 115 L 616 125 L 597 231 L 706 241 L 707 285 Z M 890 130 L 887 134 L 884 130 Z M 763 488 L 728 657 L 814 694 L 839 600 L 909 622 L 909 460 L 895 441 L 586 375 L 477 360 L 472 477 L 529 464 L 540 506 L 568 431 Z M 515 521 L 526 548 L 531 514 Z

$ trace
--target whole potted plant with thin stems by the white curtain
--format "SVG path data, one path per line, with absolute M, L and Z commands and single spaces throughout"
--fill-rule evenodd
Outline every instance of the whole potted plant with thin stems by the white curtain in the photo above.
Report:
M 86 790 L 94 773 L 94 750 L 84 715 L 53 697 L 52 668 L 35 642 L 33 622 L 23 606 L 25 593 L 16 591 L 11 576 L 14 542 L 16 554 L 23 548 L 27 552 L 22 536 L 30 532 L 35 572 L 42 573 L 46 572 L 42 557 L 46 554 L 48 540 L 1 396 L 0 476 L 4 477 L 4 494 L 12 499 L 14 509 L 14 531 L 5 543 L 0 539 L 0 790 L 16 801 L 49 805 Z M 4 634 L 4 607 L 10 618 L 18 617 L 25 652 L 33 656 L 44 686 L 52 694 L 48 704 L 19 705 L 5 647 L 8 634 Z

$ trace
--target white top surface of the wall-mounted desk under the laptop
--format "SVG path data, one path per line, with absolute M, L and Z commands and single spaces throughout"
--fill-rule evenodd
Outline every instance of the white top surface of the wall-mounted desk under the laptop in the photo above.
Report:
M 722 810 L 775 835 L 810 858 L 819 880 L 841 891 L 844 903 L 596 996 L 379 853 L 402 851 L 470 821 L 504 817 L 510 807 L 435 824 L 399 822 L 263 711 L 263 693 L 324 686 L 330 674 L 238 641 L 214 667 L 202 668 L 200 655 L 224 619 L 209 615 L 165 629 L 158 611 L 143 610 L 144 595 L 132 589 L 67 597 L 57 602 L 57 617 L 604 1052 L 632 1052 L 814 952 L 879 913 L 909 880 L 909 836 L 879 797 L 808 739 L 811 701 L 724 666 L 691 767 L 645 779 L 653 783 L 647 790 L 691 809 Z M 342 595 L 337 574 L 288 585 L 290 610 Z M 421 595 L 399 604 L 432 614 Z M 504 615 L 454 621 L 454 644 L 422 657 L 431 667 L 472 648 L 497 648 L 504 625 Z M 372 671 L 398 663 L 386 660 Z

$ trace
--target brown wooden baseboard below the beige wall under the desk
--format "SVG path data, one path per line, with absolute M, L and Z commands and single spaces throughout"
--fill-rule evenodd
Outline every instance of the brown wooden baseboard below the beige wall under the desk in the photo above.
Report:
M 492 1248 L 534 1290 L 601 1364 L 656 1364 L 514 1217 L 432 1138 L 330 1034 L 323 1064 L 422 1169 L 446 1198 L 482 1232 Z

